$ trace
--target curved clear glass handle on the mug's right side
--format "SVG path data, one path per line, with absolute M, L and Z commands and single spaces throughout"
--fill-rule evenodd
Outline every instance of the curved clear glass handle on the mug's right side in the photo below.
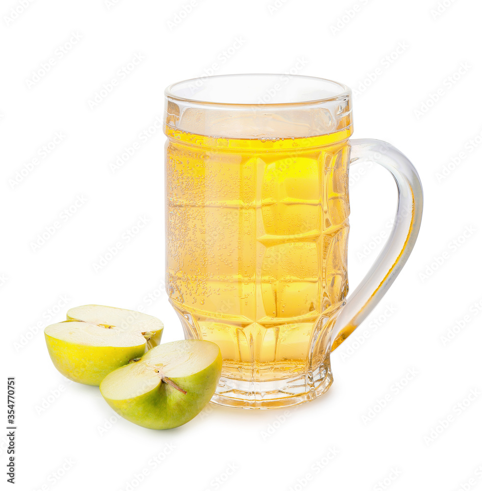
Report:
M 385 167 L 398 187 L 397 215 L 383 250 L 375 264 L 348 297 L 335 322 L 331 350 L 338 347 L 374 309 L 406 263 L 422 221 L 423 191 L 411 162 L 394 146 L 368 138 L 350 140 L 351 165 L 374 162 Z

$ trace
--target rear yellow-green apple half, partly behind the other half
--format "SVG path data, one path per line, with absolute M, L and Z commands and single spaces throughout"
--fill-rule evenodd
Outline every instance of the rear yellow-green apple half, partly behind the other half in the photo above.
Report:
M 82 305 L 67 312 L 67 321 L 45 328 L 55 368 L 74 382 L 99 385 L 112 370 L 159 344 L 163 324 L 134 310 Z

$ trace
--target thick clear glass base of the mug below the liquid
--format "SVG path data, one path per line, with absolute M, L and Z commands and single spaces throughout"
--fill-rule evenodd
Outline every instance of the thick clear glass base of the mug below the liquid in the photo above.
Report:
M 278 380 L 240 380 L 221 376 L 211 402 L 239 409 L 283 409 L 312 401 L 333 382 L 330 365 L 321 365 L 313 374 Z

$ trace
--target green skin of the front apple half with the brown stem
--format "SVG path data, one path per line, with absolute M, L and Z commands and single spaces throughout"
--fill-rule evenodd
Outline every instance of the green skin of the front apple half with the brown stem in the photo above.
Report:
M 221 368 L 219 352 L 204 370 L 188 377 L 170 378 L 186 394 L 160 380 L 153 390 L 132 399 L 111 400 L 103 396 L 108 405 L 128 421 L 152 430 L 168 430 L 184 425 L 208 404 L 216 391 Z M 102 383 L 100 390 L 102 393 Z

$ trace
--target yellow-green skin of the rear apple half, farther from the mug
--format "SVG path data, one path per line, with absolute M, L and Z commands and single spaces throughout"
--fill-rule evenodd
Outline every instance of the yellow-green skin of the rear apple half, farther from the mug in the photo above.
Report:
M 55 368 L 64 377 L 87 385 L 100 385 L 106 375 L 133 358 L 141 357 L 146 350 L 145 343 L 124 348 L 85 346 L 48 334 L 45 334 L 45 342 Z

